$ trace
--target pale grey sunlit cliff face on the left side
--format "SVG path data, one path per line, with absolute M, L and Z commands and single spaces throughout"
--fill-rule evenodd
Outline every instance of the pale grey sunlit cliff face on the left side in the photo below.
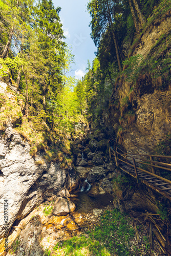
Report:
M 7 91 L 6 83 L 0 82 L 0 89 L 2 95 L 15 101 L 15 96 Z M 0 133 L 0 237 L 5 232 L 4 200 L 8 200 L 10 230 L 16 219 L 24 218 L 41 202 L 52 200 L 63 187 L 67 175 L 58 163 L 46 164 L 40 154 L 31 157 L 29 143 L 13 129 L 11 120 L 6 120 L 6 130 Z

